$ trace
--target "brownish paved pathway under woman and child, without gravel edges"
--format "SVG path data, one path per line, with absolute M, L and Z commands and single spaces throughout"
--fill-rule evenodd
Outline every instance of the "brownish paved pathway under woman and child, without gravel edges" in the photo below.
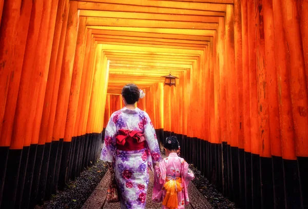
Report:
M 120 209 L 120 203 L 107 203 L 106 192 L 108 187 L 108 179 L 110 179 L 110 172 L 108 171 L 98 186 L 95 188 L 89 199 L 85 202 L 82 209 Z M 153 173 L 150 172 L 150 181 L 148 185 L 146 208 L 147 209 L 161 209 L 162 205 L 153 203 L 151 200 L 153 191 Z M 205 199 L 205 197 L 197 190 L 193 183 L 188 186 L 190 205 L 186 205 L 187 209 L 211 209 L 213 208 Z

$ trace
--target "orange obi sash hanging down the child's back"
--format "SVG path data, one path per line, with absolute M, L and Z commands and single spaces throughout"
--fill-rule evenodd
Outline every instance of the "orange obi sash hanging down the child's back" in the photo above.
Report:
M 166 177 L 164 184 L 166 190 L 166 197 L 163 200 L 163 205 L 174 209 L 178 207 L 178 192 L 182 191 L 182 179 L 181 177 Z

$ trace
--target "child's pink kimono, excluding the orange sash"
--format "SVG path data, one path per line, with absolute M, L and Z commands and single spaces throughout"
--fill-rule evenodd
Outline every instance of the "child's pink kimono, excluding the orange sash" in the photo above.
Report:
M 166 197 L 166 191 L 163 186 L 166 182 L 166 178 L 180 177 L 182 180 L 182 191 L 178 192 L 178 207 L 184 208 L 184 205 L 189 204 L 187 186 L 189 181 L 194 179 L 194 174 L 189 170 L 188 163 L 181 157 L 178 157 L 177 153 L 170 153 L 168 157 L 163 159 L 159 166 L 155 166 L 155 177 L 153 185 L 153 202 L 161 202 Z M 163 205 L 164 209 L 168 207 Z

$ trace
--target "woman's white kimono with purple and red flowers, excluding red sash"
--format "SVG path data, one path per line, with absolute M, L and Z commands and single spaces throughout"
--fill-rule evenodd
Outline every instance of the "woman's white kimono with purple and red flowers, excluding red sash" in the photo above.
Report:
M 147 148 L 136 151 L 117 150 L 115 136 L 120 129 L 144 133 Z M 121 192 L 121 208 L 145 208 L 148 168 L 161 161 L 156 132 L 148 114 L 139 108 L 123 108 L 114 112 L 105 130 L 100 159 L 113 162 L 115 179 Z

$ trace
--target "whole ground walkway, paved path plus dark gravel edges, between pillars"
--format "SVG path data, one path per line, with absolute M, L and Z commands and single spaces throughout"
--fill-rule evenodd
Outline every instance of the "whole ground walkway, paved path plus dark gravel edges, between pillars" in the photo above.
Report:
M 195 179 L 189 184 L 190 208 L 237 208 L 236 205 L 223 197 L 215 186 L 210 184 L 197 169 L 190 165 L 195 173 Z M 89 170 L 84 171 L 75 181 L 70 181 L 67 188 L 58 193 L 44 205 L 36 205 L 35 209 L 101 209 L 120 208 L 119 203 L 106 203 L 106 188 L 108 186 L 109 172 L 104 161 L 98 160 Z M 147 194 L 146 208 L 160 209 L 161 204 L 151 201 L 153 189 L 153 174 L 150 172 L 150 181 Z

